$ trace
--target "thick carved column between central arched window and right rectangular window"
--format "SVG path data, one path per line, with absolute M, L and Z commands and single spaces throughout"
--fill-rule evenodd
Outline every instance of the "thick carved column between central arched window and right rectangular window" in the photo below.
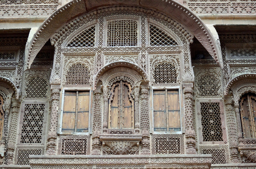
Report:
M 141 131 L 142 131 L 142 141 L 141 141 L 141 154 L 150 155 L 150 108 L 149 108 L 149 88 L 147 86 L 142 86 L 140 90 L 140 113 L 141 113 Z

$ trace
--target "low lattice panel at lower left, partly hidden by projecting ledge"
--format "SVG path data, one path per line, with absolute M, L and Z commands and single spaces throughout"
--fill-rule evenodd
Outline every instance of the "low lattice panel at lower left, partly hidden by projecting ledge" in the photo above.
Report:
M 44 155 L 45 147 L 20 146 L 16 148 L 14 162 L 16 165 L 29 165 L 29 155 Z

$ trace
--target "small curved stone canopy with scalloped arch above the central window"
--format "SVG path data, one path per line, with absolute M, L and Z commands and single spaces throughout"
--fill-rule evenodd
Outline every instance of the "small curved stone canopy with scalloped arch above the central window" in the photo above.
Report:
M 99 81 L 104 86 L 111 86 L 118 81 L 117 77 L 131 83 L 132 86 L 138 85 L 140 81 L 148 81 L 147 74 L 140 66 L 130 62 L 113 62 L 102 67 L 95 75 L 94 89 Z

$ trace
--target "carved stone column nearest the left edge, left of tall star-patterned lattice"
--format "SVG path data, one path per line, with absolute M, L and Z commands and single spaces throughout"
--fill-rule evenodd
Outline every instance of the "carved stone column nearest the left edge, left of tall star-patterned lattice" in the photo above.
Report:
M 10 114 L 10 118 L 9 118 L 10 125 L 8 130 L 8 133 L 9 133 L 8 153 L 7 153 L 8 164 L 13 164 L 14 150 L 16 147 L 19 109 L 20 109 L 20 101 L 12 98 L 11 111 L 10 111 L 11 113 L 6 111 L 6 113 Z

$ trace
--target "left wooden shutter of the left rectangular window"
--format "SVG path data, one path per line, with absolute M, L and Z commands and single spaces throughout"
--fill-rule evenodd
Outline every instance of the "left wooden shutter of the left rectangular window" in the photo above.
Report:
M 62 132 L 75 131 L 76 118 L 76 91 L 65 91 L 63 117 L 62 117 Z

